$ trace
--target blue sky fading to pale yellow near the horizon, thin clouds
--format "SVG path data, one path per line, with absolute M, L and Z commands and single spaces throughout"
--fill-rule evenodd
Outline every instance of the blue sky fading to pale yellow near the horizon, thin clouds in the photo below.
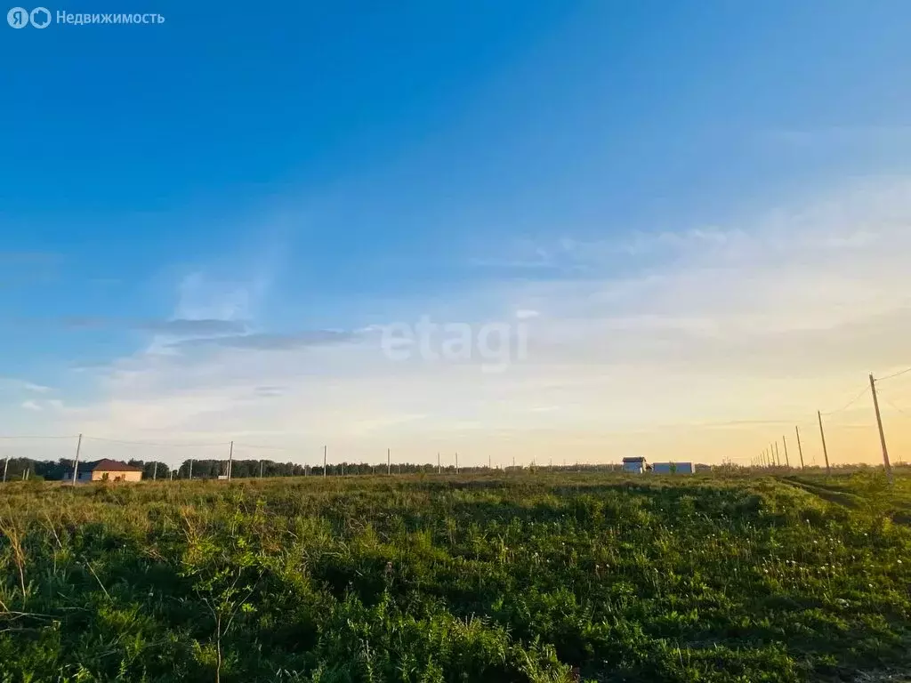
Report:
M 128 5 L 0 25 L 0 454 L 911 457 L 903 0 Z

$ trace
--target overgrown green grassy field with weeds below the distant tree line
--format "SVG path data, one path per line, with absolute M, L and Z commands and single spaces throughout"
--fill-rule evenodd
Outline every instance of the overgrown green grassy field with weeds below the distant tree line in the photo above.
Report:
M 2 681 L 911 671 L 908 476 L 26 482 L 0 496 Z

